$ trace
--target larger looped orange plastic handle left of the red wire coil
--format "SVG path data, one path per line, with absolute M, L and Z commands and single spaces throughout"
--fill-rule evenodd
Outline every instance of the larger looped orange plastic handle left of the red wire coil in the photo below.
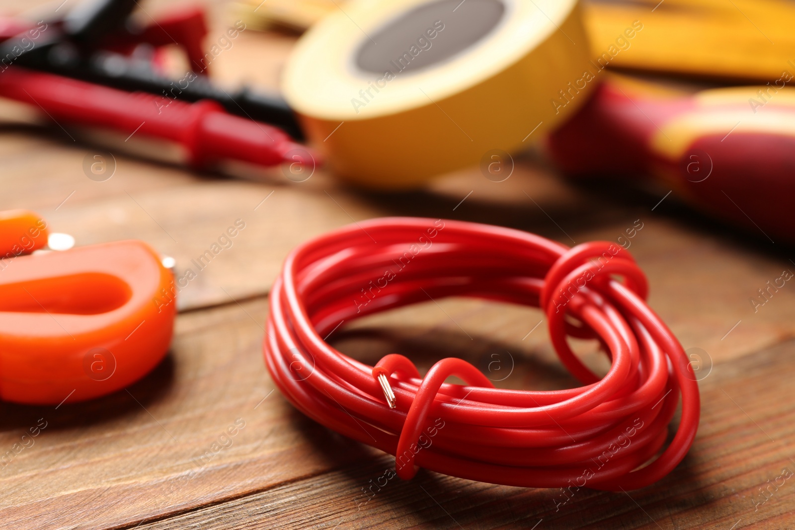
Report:
M 58 404 L 130 385 L 169 348 L 173 292 L 140 241 L 0 260 L 0 399 Z

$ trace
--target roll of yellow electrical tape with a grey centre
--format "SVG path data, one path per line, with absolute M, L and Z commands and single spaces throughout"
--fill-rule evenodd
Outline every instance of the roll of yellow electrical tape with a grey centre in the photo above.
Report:
M 542 137 L 586 101 L 589 59 L 576 0 L 354 0 L 301 37 L 283 91 L 339 176 L 413 188 Z

